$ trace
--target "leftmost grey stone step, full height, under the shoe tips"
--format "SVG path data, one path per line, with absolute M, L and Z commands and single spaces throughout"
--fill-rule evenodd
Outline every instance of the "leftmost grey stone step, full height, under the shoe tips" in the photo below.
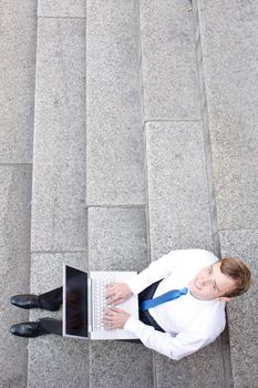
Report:
M 1 1 L 0 20 L 0 387 L 27 388 L 28 340 L 9 328 L 28 312 L 9 299 L 30 287 L 35 1 Z

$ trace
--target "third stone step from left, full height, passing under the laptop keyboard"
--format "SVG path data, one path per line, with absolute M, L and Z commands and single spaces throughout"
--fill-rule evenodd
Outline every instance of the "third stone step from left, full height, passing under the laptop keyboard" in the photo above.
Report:
M 86 3 L 86 204 L 91 269 L 147 265 L 136 1 Z M 153 386 L 152 351 L 92 341 L 90 387 Z

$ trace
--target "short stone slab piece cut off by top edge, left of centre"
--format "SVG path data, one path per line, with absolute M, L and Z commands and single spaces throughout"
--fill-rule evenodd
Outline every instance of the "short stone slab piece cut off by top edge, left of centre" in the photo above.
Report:
M 85 18 L 85 0 L 39 0 L 38 17 Z

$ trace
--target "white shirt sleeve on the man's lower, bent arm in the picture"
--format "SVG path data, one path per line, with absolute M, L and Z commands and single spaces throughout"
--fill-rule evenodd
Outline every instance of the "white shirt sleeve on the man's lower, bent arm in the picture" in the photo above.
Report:
M 132 316 L 127 319 L 124 328 L 134 333 L 147 348 L 174 360 L 192 355 L 215 339 L 204 338 L 197 333 L 190 331 L 182 331 L 173 337 L 169 333 L 155 330 L 154 327 L 147 326 Z

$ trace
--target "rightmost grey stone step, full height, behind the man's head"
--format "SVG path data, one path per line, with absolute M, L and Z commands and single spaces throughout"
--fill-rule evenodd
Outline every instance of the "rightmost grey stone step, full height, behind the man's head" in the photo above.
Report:
M 194 7 L 200 31 L 221 253 L 239 254 L 257 274 L 258 4 L 195 0 Z M 235 387 L 257 385 L 256 312 L 254 289 L 228 307 Z

